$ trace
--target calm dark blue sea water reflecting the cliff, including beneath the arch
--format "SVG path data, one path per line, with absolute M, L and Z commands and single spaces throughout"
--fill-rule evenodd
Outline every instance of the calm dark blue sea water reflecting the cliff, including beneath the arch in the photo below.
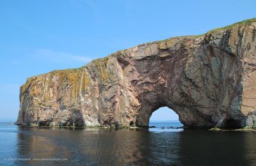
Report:
M 172 121 L 150 125 L 181 126 Z M 0 123 L 0 148 L 0 165 L 256 165 L 256 132 Z

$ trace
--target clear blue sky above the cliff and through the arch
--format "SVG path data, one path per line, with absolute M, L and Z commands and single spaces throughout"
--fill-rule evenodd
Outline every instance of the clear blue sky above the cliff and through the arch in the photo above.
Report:
M 256 1 L 0 1 L 0 112 L 16 118 L 28 77 L 117 50 L 256 17 Z M 153 117 L 152 117 L 153 118 Z M 177 119 L 168 109 L 154 118 Z

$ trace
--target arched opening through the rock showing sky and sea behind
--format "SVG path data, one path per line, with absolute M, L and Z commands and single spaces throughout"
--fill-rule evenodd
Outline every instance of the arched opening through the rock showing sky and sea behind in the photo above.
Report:
M 168 107 L 160 107 L 152 112 L 148 126 L 156 127 L 181 127 L 179 115 Z

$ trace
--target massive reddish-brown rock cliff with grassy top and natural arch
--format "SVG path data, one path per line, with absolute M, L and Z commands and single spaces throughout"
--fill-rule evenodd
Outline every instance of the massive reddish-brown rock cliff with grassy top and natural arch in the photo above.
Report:
M 31 77 L 17 124 L 148 126 L 164 106 L 189 127 L 256 127 L 256 19 Z

